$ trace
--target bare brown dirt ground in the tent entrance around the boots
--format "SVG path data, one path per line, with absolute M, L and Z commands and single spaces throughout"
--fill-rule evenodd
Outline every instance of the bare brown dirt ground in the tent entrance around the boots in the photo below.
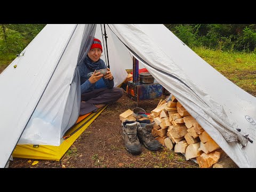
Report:
M 138 107 L 150 113 L 160 99 L 138 102 Z M 124 92 L 122 98 L 111 103 L 77 138 L 59 162 L 37 159 L 13 158 L 9 168 L 198 168 L 192 160 L 186 161 L 184 155 L 174 153 L 166 147 L 160 151 L 150 151 L 142 146 L 140 155 L 128 153 L 122 138 L 122 126 L 119 115 L 127 109 L 137 107 L 137 102 Z M 31 161 L 29 161 L 31 160 Z M 38 161 L 36 165 L 32 165 Z

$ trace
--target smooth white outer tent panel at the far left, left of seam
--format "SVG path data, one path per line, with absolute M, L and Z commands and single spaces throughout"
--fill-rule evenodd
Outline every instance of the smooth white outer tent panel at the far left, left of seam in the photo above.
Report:
M 61 34 L 52 30 L 54 25 L 45 26 L 22 51 L 24 55 L 16 58 L 0 75 L 0 134 L 4 135 L 1 139 L 0 167 L 4 167 L 11 156 L 60 59 L 57 55 L 62 53 L 74 26 L 58 26 Z M 42 53 L 47 57 L 42 57 Z M 14 65 L 17 68 L 13 68 Z

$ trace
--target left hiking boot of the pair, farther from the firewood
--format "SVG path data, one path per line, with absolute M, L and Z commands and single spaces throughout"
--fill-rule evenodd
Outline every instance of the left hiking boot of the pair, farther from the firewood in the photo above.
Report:
M 131 154 L 140 154 L 141 145 L 137 137 L 137 122 L 128 121 L 122 123 L 123 140 L 126 150 Z

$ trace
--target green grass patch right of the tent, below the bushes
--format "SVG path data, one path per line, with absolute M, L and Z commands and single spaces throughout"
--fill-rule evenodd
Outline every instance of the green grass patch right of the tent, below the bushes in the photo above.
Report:
M 195 47 L 193 51 L 231 82 L 256 97 L 256 54 Z

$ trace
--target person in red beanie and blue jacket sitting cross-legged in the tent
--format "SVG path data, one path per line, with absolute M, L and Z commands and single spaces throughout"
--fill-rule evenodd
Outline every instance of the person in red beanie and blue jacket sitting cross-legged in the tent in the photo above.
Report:
M 114 87 L 114 77 L 105 62 L 100 59 L 102 46 L 99 39 L 94 38 L 90 51 L 84 61 L 78 66 L 81 81 L 81 107 L 80 116 L 96 112 L 110 102 L 115 102 L 123 95 L 123 89 Z M 107 68 L 103 76 L 95 70 Z

